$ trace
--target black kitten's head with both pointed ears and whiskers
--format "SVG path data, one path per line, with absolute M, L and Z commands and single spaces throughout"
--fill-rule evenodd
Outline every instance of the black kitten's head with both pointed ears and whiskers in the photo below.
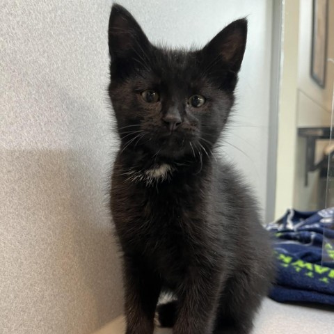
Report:
M 109 95 L 122 147 L 167 160 L 209 152 L 234 102 L 246 35 L 246 19 L 238 19 L 202 49 L 156 47 L 125 8 L 113 5 Z

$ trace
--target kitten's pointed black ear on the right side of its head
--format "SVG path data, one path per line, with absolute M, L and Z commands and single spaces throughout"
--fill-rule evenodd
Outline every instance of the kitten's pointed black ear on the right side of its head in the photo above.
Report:
M 246 48 L 247 19 L 237 19 L 218 33 L 203 49 L 206 56 L 221 58 L 224 67 L 238 72 Z

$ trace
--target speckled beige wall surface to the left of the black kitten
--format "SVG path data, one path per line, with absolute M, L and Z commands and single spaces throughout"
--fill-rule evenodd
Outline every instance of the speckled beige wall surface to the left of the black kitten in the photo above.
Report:
M 0 333 L 122 312 L 107 175 L 110 1 L 0 1 Z

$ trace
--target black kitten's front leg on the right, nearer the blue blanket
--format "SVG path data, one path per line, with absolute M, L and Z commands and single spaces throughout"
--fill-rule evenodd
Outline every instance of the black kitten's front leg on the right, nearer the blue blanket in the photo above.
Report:
M 173 334 L 211 334 L 218 308 L 221 279 L 218 273 L 199 271 L 184 282 L 178 293 L 178 315 Z

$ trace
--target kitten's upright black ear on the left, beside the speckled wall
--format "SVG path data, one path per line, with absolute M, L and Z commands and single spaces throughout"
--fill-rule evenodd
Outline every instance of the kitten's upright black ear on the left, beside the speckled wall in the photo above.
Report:
M 141 53 L 150 45 L 136 19 L 122 6 L 114 4 L 109 19 L 109 54 L 111 60 Z

